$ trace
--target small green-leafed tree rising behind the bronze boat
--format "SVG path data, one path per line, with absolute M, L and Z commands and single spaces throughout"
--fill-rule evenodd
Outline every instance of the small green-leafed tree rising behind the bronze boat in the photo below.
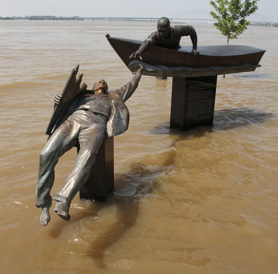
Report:
M 215 0 L 209 1 L 215 12 L 210 15 L 217 20 L 213 25 L 227 38 L 227 46 L 230 39 L 237 37 L 247 29 L 250 22 L 246 18 L 257 9 L 259 0 Z M 217 5 L 218 4 L 218 5 Z

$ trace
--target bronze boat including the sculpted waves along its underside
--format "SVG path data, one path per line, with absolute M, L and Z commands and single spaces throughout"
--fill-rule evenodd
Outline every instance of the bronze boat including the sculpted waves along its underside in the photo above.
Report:
M 138 64 L 144 68 L 143 75 L 149 76 L 208 76 L 244 71 L 261 67 L 259 62 L 265 50 L 249 46 L 199 46 L 199 55 L 191 53 L 191 47 L 167 49 L 148 48 L 143 60 L 129 59 L 143 41 L 111 37 L 106 38 L 125 65 L 136 71 Z

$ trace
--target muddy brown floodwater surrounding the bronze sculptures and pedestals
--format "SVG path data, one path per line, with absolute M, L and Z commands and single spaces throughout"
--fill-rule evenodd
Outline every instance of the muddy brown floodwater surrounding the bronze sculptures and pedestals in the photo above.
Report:
M 143 40 L 155 22 L 0 20 L 2 273 L 274 274 L 278 271 L 278 28 L 250 26 L 232 45 L 267 52 L 254 72 L 218 76 L 213 127 L 169 129 L 172 79 L 142 76 L 114 138 L 115 191 L 73 199 L 69 222 L 35 207 L 38 158 L 71 69 L 114 89 L 132 73 L 105 38 Z M 194 24 L 199 45 L 224 45 Z M 190 45 L 183 38 L 182 45 Z M 56 167 L 54 194 L 76 151 Z

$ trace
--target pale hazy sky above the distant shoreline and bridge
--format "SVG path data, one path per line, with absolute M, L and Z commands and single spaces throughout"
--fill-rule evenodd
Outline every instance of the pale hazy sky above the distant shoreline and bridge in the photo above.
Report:
M 278 22 L 278 1 L 259 0 L 260 16 Z M 79 16 L 79 17 L 161 17 L 208 18 L 202 12 L 213 10 L 209 0 L 0 0 L 0 16 Z M 187 12 L 185 12 L 187 11 Z M 258 21 L 261 18 L 258 17 Z

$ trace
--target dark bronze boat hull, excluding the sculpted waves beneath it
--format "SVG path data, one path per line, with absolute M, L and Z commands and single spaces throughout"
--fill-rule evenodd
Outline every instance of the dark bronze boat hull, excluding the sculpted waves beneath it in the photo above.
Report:
M 139 49 L 143 41 L 111 37 L 106 35 L 112 48 L 129 68 L 134 59 L 130 55 Z M 142 54 L 142 61 L 152 66 L 165 66 L 169 68 L 204 69 L 211 67 L 259 67 L 259 62 L 265 50 L 250 46 L 199 46 L 199 55 L 194 56 L 190 47 L 180 49 L 167 49 L 162 47 L 150 47 Z M 241 71 L 240 71 L 241 72 Z M 230 72 L 234 73 L 234 72 Z

